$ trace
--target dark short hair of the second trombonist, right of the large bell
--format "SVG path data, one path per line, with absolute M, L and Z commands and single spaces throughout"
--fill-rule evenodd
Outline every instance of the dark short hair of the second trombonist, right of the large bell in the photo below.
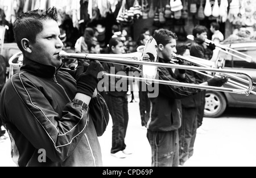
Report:
M 176 34 L 168 29 L 156 29 L 153 37 L 158 45 L 162 44 L 164 46 L 171 43 L 172 39 L 177 40 Z

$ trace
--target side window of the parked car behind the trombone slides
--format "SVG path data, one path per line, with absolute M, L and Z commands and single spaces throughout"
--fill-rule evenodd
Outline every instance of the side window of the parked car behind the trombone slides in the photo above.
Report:
M 242 52 L 244 54 L 247 54 L 254 58 L 254 61 L 256 61 L 256 47 L 246 47 L 246 48 L 236 48 L 235 50 L 238 50 L 239 52 Z M 232 52 L 234 53 L 234 52 Z M 240 54 L 234 53 L 237 56 L 243 57 Z M 246 62 L 244 60 L 241 60 L 240 58 L 237 58 L 235 56 L 229 55 L 229 57 L 225 58 L 225 67 L 238 67 L 238 68 L 248 68 L 248 69 L 256 69 L 256 63 L 254 62 Z

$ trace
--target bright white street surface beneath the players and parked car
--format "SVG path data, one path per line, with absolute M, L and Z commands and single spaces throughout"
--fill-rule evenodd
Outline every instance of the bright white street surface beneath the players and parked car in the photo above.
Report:
M 133 154 L 125 159 L 110 155 L 112 120 L 99 137 L 105 167 L 150 167 L 151 149 L 147 130 L 141 126 L 138 92 L 137 103 L 129 103 L 129 125 L 126 145 Z M 129 101 L 131 95 L 129 95 Z M 197 134 L 194 155 L 184 167 L 255 167 L 256 166 L 256 113 L 254 109 L 230 108 L 220 118 L 204 118 L 208 131 Z M 10 139 L 0 143 L 0 167 L 15 167 L 10 155 Z

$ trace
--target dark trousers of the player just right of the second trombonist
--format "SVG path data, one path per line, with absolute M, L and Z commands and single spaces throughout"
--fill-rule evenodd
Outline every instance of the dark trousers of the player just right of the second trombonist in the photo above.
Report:
M 197 108 L 182 108 L 181 127 L 179 128 L 180 165 L 192 155 L 196 139 Z

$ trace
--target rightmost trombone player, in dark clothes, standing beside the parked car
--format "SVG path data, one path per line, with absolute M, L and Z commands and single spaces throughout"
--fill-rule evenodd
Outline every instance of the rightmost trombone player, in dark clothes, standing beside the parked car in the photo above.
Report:
M 208 44 L 205 45 L 205 39 L 207 39 L 207 28 L 205 26 L 196 26 L 192 33 L 193 36 L 195 37 L 195 40 L 193 41 L 192 45 L 191 45 L 191 49 L 190 49 L 190 54 L 191 56 L 194 57 L 199 57 L 202 58 L 204 60 L 210 60 L 210 56 L 208 55 L 208 51 L 210 51 L 211 53 L 213 52 L 213 50 L 215 49 L 215 45 L 214 44 Z M 202 81 L 206 81 L 207 77 L 205 75 L 201 75 L 201 80 Z M 205 90 L 203 90 L 202 92 L 200 92 L 199 95 L 197 95 L 198 99 L 199 99 L 199 110 L 198 110 L 198 115 L 197 115 L 197 128 L 200 128 L 200 126 L 203 124 L 203 118 L 204 118 L 204 107 L 205 107 Z M 202 128 L 201 128 L 202 129 Z M 203 130 L 197 130 L 198 133 L 203 133 L 205 132 L 204 129 Z M 207 130 L 207 128 L 205 129 Z

